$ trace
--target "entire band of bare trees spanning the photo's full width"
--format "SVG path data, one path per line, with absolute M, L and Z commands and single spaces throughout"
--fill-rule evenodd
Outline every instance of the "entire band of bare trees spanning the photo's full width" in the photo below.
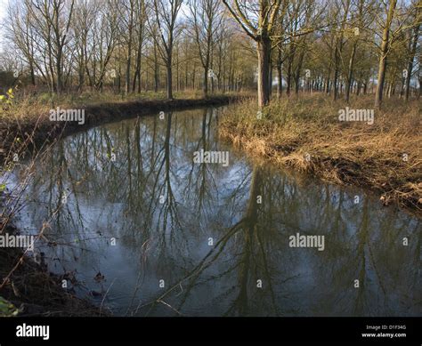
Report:
M 421 93 L 421 19 L 418 0 L 20 0 L 2 61 L 53 93 L 157 92 L 165 79 L 168 99 L 257 84 L 264 107 L 277 84 L 278 97 L 373 92 L 379 107 Z

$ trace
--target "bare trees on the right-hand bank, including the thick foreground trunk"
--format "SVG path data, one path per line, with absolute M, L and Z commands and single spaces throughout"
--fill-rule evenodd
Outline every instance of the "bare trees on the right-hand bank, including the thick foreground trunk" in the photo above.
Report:
M 329 2 L 223 0 L 223 3 L 244 32 L 256 42 L 260 107 L 264 107 L 270 101 L 271 64 L 274 60 L 272 55 L 275 52 L 277 52 L 276 61 L 280 79 L 280 65 L 284 61 L 288 64 L 288 93 L 290 93 L 292 78 L 296 78 L 297 93 L 298 78 L 304 61 L 312 61 L 317 57 L 322 58 L 322 64 L 319 64 L 319 68 L 315 68 L 315 72 L 319 74 L 317 76 L 320 79 L 325 75 L 325 81 L 322 83 L 325 84 L 326 91 L 332 90 L 333 98 L 337 100 L 339 86 L 342 85 L 339 83 L 339 78 L 344 76 L 345 101 L 349 101 L 353 82 L 361 83 L 361 80 L 356 78 L 357 54 L 361 54 L 363 58 L 366 58 L 365 54 L 369 55 L 369 67 L 366 67 L 369 68 L 369 73 L 362 69 L 359 71 L 359 76 L 362 76 L 362 72 L 366 72 L 367 81 L 370 77 L 370 68 L 372 68 L 370 63 L 373 61 L 370 60 L 372 54 L 378 59 L 375 106 L 379 107 L 383 98 L 388 60 L 398 65 L 395 68 L 404 67 L 402 74 L 405 80 L 402 82 L 402 89 L 405 89 L 406 99 L 409 98 L 410 77 L 413 72 L 422 20 L 420 2 L 402 2 L 400 6 L 397 0 Z M 320 50 L 323 55 L 309 54 L 312 49 Z M 308 59 L 304 60 L 304 58 Z M 365 62 L 368 61 L 368 59 L 365 60 Z M 295 70 L 294 63 L 296 63 Z M 326 68 L 325 73 L 324 68 Z M 307 73 L 309 77 L 309 69 Z M 390 86 L 394 88 L 395 74 L 392 77 Z

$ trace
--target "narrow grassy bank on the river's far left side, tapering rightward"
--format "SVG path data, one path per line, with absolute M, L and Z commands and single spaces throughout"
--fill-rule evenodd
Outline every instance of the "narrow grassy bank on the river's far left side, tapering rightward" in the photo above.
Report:
M 113 101 L 99 103 L 97 100 L 63 101 L 52 104 L 31 104 L 28 101 L 10 106 L 0 117 L 0 163 L 18 157 L 27 149 L 40 149 L 45 143 L 56 140 L 63 134 L 84 130 L 127 117 L 191 109 L 207 106 L 221 106 L 238 101 L 239 96 L 220 95 L 204 98 L 168 100 Z M 85 103 L 90 102 L 90 103 Z M 51 109 L 83 109 L 84 123 L 77 121 L 51 121 Z

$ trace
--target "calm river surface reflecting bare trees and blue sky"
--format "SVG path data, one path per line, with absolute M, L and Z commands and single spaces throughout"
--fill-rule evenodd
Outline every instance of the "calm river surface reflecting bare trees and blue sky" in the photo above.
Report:
M 219 141 L 219 117 L 134 118 L 60 141 L 19 221 L 37 232 L 59 210 L 37 247 L 49 270 L 116 315 L 420 312 L 418 219 L 248 159 Z M 200 149 L 229 151 L 230 165 L 194 163 Z M 324 236 L 324 250 L 289 247 L 296 233 Z

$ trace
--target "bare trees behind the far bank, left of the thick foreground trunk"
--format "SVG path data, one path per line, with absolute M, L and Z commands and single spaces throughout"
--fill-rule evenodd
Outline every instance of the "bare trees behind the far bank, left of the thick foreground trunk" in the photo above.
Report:
M 239 90 L 254 60 L 223 16 L 215 0 L 21 0 L 8 9 L 2 65 L 53 93 Z

